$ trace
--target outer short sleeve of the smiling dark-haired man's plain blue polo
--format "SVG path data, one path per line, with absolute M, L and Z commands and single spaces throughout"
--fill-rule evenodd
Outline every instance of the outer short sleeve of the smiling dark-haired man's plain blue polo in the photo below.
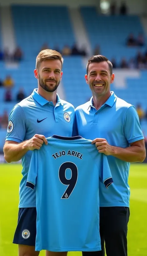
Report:
M 140 126 L 139 116 L 134 106 L 130 106 L 127 109 L 123 128 L 124 135 L 128 143 L 144 139 L 143 132 Z

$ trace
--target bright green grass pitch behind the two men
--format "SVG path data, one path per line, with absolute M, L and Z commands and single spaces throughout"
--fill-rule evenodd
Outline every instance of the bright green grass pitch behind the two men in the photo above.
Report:
M 0 165 L 0 256 L 16 256 L 17 245 L 12 244 L 17 224 L 18 194 L 21 165 Z M 130 221 L 128 225 L 128 256 L 147 255 L 147 165 L 131 164 Z M 40 253 L 45 256 L 45 252 Z M 81 256 L 71 252 L 68 256 Z

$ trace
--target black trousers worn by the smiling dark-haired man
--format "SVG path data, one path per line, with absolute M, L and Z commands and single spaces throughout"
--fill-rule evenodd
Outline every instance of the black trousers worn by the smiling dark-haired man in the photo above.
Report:
M 82 252 L 82 256 L 127 256 L 128 207 L 100 207 L 101 251 Z M 105 249 L 104 249 L 105 242 Z

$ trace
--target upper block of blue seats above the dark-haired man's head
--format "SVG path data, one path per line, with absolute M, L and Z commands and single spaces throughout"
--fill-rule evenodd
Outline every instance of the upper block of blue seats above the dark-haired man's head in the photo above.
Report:
M 137 16 L 101 16 L 95 7 L 81 7 L 81 15 L 87 28 L 92 49 L 100 45 L 101 54 L 109 60 L 116 57 L 118 64 L 125 57 L 129 60 L 145 47 L 127 47 L 126 38 L 130 33 L 135 37 L 144 33 Z

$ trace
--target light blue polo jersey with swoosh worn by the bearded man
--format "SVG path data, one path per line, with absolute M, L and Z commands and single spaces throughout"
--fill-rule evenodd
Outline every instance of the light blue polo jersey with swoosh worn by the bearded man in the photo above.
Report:
M 57 103 L 47 101 L 34 89 L 33 93 L 16 104 L 10 115 L 6 140 L 22 142 L 32 138 L 35 134 L 45 137 L 54 133 L 61 136 L 71 136 L 74 120 L 74 107 L 63 101 L 57 95 Z M 36 207 L 35 190 L 25 186 L 29 171 L 32 151 L 28 151 L 22 158 L 22 180 L 20 182 L 19 207 Z

